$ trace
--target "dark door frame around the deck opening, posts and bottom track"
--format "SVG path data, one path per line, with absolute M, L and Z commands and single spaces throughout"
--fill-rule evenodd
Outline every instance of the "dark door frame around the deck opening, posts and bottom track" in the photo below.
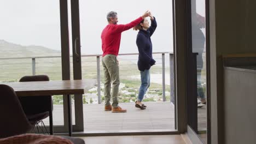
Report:
M 177 99 L 176 111 L 177 111 L 177 130 L 173 133 L 167 132 L 167 134 L 178 134 L 185 133 L 187 131 L 187 47 L 188 44 L 188 4 L 186 0 L 172 0 L 173 1 L 173 51 L 174 51 L 174 86 L 175 86 L 175 97 Z M 67 0 L 60 0 L 61 5 L 61 41 L 62 41 L 62 80 L 70 79 L 70 65 L 69 65 L 69 40 L 68 40 L 68 16 L 67 16 Z M 79 27 L 79 0 L 71 0 L 72 11 L 72 41 L 73 41 L 73 62 L 78 58 L 77 63 L 73 63 L 74 68 L 74 79 L 82 79 L 81 70 L 81 57 L 80 57 L 80 27 Z M 66 10 L 62 10 L 65 9 Z M 62 17 L 63 16 L 63 17 Z M 78 40 L 75 40 L 78 39 Z M 77 43 L 75 43 L 77 42 Z M 75 53 L 75 45 L 78 49 Z M 64 97 L 65 98 L 65 97 Z M 75 97 L 75 113 L 82 113 L 82 115 L 77 114 L 75 116 L 75 124 L 73 125 L 74 131 L 83 130 L 83 103 L 81 104 L 81 96 Z M 65 100 L 65 99 L 64 99 Z M 64 101 L 65 103 L 65 101 Z M 82 106 L 82 107 L 81 107 Z M 66 107 L 66 106 L 64 106 Z M 66 109 L 64 109 L 65 115 Z M 79 116 L 78 116 L 79 115 Z M 77 120 L 77 118 L 79 120 Z M 64 119 L 67 119 L 66 117 Z M 67 120 L 65 120 L 67 121 Z M 78 124 L 77 124 L 78 122 Z M 65 127 L 67 129 L 67 127 Z M 160 132 L 163 134 L 163 132 Z M 159 133 L 159 134 L 160 134 Z M 139 133 L 143 134 L 158 134 L 154 133 Z M 74 134 L 75 135 L 75 134 Z M 81 134 L 79 134 L 81 135 Z M 86 134 L 82 134 L 86 135 Z M 107 135 L 107 134 L 106 134 Z M 111 134 L 110 134 L 111 135 Z M 112 134 L 113 135 L 113 134 Z M 120 133 L 118 133 L 120 135 Z M 131 134 L 130 134 L 131 135 Z

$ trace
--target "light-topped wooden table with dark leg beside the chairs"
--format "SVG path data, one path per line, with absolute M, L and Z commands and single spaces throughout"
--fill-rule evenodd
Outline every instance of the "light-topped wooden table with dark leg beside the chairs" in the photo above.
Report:
M 94 79 L 32 81 L 32 82 L 0 82 L 14 89 L 18 97 L 34 97 L 39 95 L 68 95 L 68 134 L 72 136 L 71 94 L 84 94 L 96 83 Z M 53 131 L 51 130 L 52 134 Z

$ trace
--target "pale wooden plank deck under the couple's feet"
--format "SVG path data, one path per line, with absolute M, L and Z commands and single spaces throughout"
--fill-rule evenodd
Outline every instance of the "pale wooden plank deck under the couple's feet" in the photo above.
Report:
M 134 103 L 119 104 L 127 113 L 104 111 L 104 104 L 84 105 L 84 133 L 124 133 L 176 131 L 174 129 L 174 106 L 169 102 L 147 102 L 146 110 Z M 74 124 L 74 108 L 73 124 Z M 199 130 L 206 130 L 206 107 L 198 109 Z M 54 125 L 63 125 L 63 106 L 54 105 Z M 45 121 L 48 124 L 48 121 Z

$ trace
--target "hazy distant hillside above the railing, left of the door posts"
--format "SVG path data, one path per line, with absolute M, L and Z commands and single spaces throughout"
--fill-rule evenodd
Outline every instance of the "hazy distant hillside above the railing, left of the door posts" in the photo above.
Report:
M 38 56 L 60 56 L 60 51 L 48 49 L 43 46 L 23 46 L 0 40 L 0 57 L 38 57 Z

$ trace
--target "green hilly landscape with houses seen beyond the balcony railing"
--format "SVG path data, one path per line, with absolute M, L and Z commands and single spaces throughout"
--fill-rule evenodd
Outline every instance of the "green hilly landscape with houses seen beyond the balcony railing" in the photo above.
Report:
M 60 52 L 51 50 L 42 46 L 22 46 L 9 43 L 5 40 L 0 40 L 0 81 L 2 82 L 15 82 L 19 81 L 22 76 L 32 75 L 32 58 L 42 56 L 60 56 Z M 28 57 L 22 59 L 12 59 L 18 57 Z M 161 55 L 154 56 L 160 59 Z M 6 59 L 4 59 L 6 58 Z M 71 58 L 72 60 L 72 58 Z M 132 103 L 136 100 L 138 89 L 141 84 L 139 71 L 137 69 L 136 57 L 132 59 L 119 57 L 120 65 L 120 103 Z M 82 74 L 83 79 L 97 79 L 96 71 L 96 57 L 82 57 Z M 71 71 L 72 70 L 71 62 Z M 151 78 L 150 88 L 144 98 L 144 101 L 162 101 L 162 65 L 157 63 L 150 69 Z M 104 103 L 103 97 L 103 73 L 102 66 L 100 67 L 101 75 L 101 99 Z M 165 68 L 165 73 L 168 75 L 170 69 Z M 36 75 L 45 74 L 50 77 L 50 80 L 61 80 L 61 58 L 36 58 Z M 73 73 L 71 73 L 73 79 Z M 170 79 L 169 79 L 170 80 Z M 166 84 L 170 81 L 166 80 Z M 165 86 L 166 100 L 170 101 L 170 85 Z M 88 93 L 83 95 L 84 104 L 96 104 L 97 102 L 97 86 L 89 90 Z M 54 104 L 62 104 L 62 95 L 54 95 Z

